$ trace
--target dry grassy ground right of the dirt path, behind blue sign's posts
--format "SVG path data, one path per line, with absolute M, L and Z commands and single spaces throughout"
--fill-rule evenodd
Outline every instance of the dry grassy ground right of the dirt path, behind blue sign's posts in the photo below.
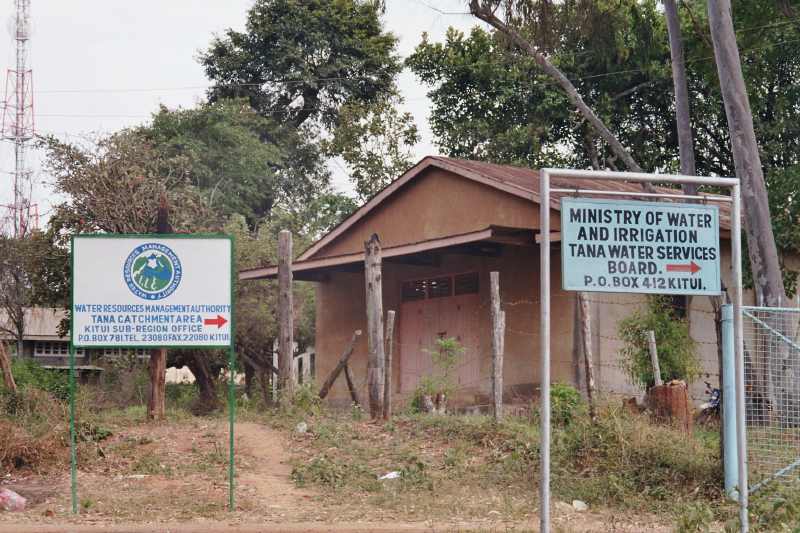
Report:
M 376 427 L 349 413 L 322 412 L 305 418 L 313 438 L 304 440 L 293 478 L 329 489 L 342 504 L 366 502 L 412 517 L 477 517 L 490 507 L 519 519 L 538 503 L 535 418 L 496 424 L 484 416 L 405 414 Z M 295 423 L 276 414 L 269 421 Z M 684 435 L 612 408 L 602 409 L 596 423 L 583 412 L 564 422 L 552 434 L 556 500 L 675 523 L 683 517 L 687 528 L 735 515 L 721 495 L 718 434 Z M 400 478 L 378 481 L 390 471 Z

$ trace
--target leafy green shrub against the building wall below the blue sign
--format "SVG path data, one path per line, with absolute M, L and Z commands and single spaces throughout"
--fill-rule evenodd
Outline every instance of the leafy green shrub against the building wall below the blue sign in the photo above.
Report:
M 623 368 L 631 382 L 645 388 L 655 383 L 647 343 L 650 330 L 656 335 L 661 379 L 694 381 L 701 367 L 688 322 L 675 316 L 664 297 L 651 296 L 646 310 L 636 311 L 619 323 L 619 336 L 625 343 L 621 352 Z

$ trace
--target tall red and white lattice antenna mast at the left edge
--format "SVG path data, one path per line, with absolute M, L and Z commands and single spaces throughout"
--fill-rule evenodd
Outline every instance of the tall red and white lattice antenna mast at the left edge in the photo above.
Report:
M 33 71 L 28 68 L 31 0 L 14 0 L 14 11 L 12 34 L 17 47 L 17 65 L 16 69 L 8 69 L 6 75 L 2 137 L 14 143 L 14 202 L 8 207 L 14 236 L 24 237 L 29 229 L 32 192 L 25 152 L 34 136 Z

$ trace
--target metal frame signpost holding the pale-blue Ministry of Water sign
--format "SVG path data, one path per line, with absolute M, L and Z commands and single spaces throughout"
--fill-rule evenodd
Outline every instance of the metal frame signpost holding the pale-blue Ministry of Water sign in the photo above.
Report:
M 739 462 L 739 519 L 748 530 L 744 419 L 744 350 L 740 186 L 736 178 L 707 178 L 634 172 L 543 169 L 540 171 L 541 291 L 541 484 L 540 529 L 550 531 L 550 195 L 561 200 L 564 290 L 647 294 L 719 295 L 719 210 L 705 202 L 731 204 L 732 283 L 736 350 L 736 440 Z M 639 183 L 692 183 L 729 188 L 730 196 L 550 188 L 551 178 Z M 602 196 L 587 199 L 581 196 Z M 670 202 L 608 199 L 615 196 Z M 696 203 L 674 203 L 689 200 Z M 546 206 L 546 207 L 543 207 Z

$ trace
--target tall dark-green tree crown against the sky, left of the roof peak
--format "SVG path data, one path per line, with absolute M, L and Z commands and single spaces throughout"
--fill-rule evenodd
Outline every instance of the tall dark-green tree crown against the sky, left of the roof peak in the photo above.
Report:
M 245 97 L 264 117 L 295 129 L 331 127 L 345 103 L 390 92 L 400 71 L 397 38 L 383 31 L 381 2 L 257 0 L 246 31 L 227 30 L 200 56 L 209 100 Z

